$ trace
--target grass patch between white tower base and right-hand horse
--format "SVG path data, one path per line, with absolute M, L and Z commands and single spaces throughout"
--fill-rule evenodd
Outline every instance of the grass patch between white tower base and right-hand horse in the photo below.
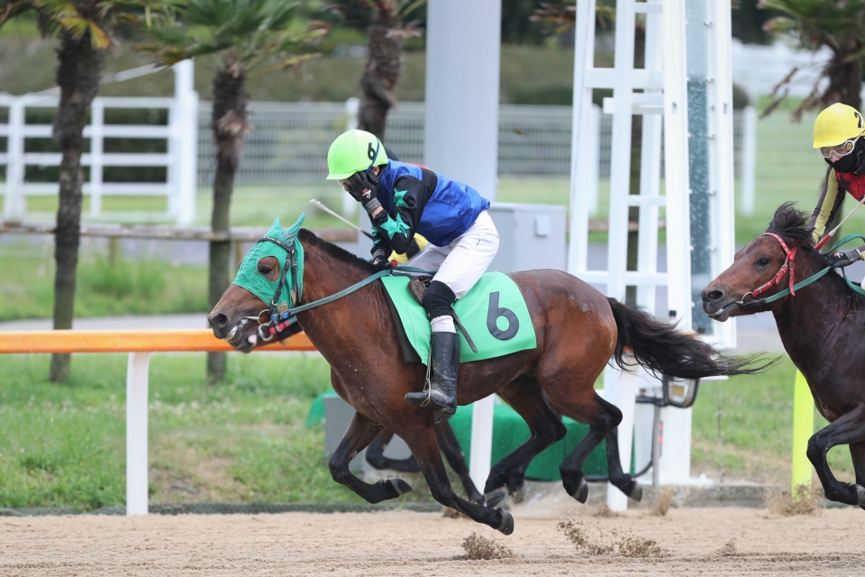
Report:
M 694 404 L 692 474 L 706 472 L 717 478 L 720 472 L 716 417 L 720 389 L 725 478 L 771 482 L 786 489 L 791 480 L 795 371 L 785 356 L 767 373 L 702 385 Z M 826 425 L 815 410 L 815 431 Z M 829 465 L 839 480 L 855 482 L 846 446 L 829 452 Z M 815 482 L 819 482 L 816 476 Z

